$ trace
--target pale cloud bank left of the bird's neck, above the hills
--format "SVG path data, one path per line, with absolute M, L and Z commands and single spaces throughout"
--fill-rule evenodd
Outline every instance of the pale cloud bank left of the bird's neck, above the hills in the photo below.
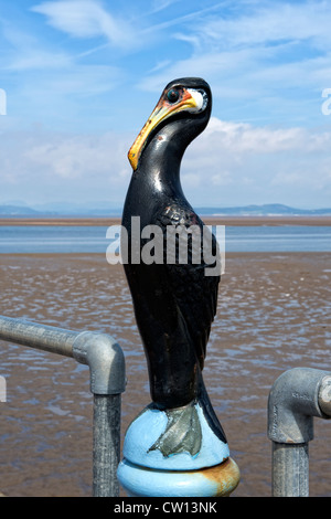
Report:
M 132 136 L 8 131 L 1 135 L 1 197 L 35 203 L 105 200 L 120 205 Z

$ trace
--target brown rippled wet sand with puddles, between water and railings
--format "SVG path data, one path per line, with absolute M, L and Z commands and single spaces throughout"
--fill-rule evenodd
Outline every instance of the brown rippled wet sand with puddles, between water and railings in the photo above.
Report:
M 295 367 L 331 370 L 331 253 L 227 254 L 204 379 L 241 468 L 233 496 L 271 492 L 267 400 Z M 145 354 L 120 265 L 102 254 L 1 254 L 0 314 L 120 343 L 128 384 L 122 435 L 150 402 Z M 73 359 L 0 342 L 0 491 L 7 496 L 89 496 L 92 395 Z M 330 423 L 314 420 L 310 495 L 331 497 Z

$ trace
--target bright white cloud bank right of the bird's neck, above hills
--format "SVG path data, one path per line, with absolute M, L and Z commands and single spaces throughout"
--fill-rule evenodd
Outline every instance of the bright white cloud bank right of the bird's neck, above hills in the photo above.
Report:
M 280 201 L 299 206 L 319 205 L 319 200 L 328 205 L 330 149 L 331 130 L 271 128 L 213 117 L 184 156 L 184 192 L 195 205 L 202 205 L 201 200 L 214 205 Z

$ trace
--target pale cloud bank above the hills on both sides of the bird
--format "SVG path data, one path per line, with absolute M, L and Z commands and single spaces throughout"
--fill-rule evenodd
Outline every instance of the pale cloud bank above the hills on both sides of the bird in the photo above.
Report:
M 135 135 L 7 131 L 0 139 L 1 192 L 34 201 L 124 202 Z M 331 130 L 270 128 L 212 118 L 188 148 L 182 184 L 195 206 L 266 203 L 328 205 Z

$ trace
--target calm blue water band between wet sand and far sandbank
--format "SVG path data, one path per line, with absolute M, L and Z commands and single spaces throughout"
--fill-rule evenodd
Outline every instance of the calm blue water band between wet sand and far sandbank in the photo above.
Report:
M 107 229 L 0 226 L 0 253 L 106 253 Z M 225 252 L 331 252 L 331 226 L 226 226 Z

